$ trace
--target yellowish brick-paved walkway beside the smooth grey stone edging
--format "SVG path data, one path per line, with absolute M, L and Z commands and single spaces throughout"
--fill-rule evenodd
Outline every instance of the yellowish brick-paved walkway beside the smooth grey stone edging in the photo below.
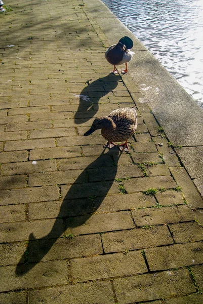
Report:
M 0 15 L 0 303 L 203 303 L 202 198 L 89 1 Z M 83 136 L 135 104 L 129 154 Z

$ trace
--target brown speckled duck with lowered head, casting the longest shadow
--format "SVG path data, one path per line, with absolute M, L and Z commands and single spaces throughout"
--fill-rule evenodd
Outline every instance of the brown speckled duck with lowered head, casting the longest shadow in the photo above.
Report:
M 88 136 L 95 130 L 101 129 L 101 135 L 108 141 L 104 147 L 109 149 L 116 142 L 125 141 L 118 145 L 122 151 L 129 152 L 127 141 L 137 129 L 137 113 L 134 107 L 121 108 L 112 111 L 109 116 L 98 117 L 94 120 L 92 127 L 84 135 Z

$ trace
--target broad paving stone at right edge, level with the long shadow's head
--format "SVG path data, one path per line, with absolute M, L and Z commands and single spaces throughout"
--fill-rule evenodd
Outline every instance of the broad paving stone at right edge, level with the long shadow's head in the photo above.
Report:
M 202 252 L 203 244 L 200 242 L 145 249 L 150 271 L 202 263 Z

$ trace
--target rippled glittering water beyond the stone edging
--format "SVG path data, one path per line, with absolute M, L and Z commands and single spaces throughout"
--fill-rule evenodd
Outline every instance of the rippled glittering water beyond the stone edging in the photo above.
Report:
M 102 0 L 203 108 L 203 0 Z

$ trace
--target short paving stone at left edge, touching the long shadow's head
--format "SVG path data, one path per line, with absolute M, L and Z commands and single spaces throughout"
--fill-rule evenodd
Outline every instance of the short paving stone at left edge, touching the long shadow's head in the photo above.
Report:
M 23 256 L 26 247 L 27 245 L 23 242 L 0 244 L 0 265 L 6 266 L 17 264 Z M 22 262 L 24 262 L 24 259 L 22 259 Z

